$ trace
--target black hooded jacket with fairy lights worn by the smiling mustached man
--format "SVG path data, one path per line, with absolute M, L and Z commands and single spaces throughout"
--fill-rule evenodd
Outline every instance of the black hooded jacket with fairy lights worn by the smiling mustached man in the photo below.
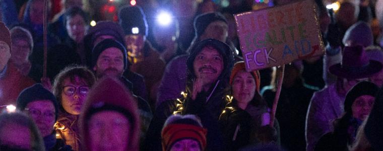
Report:
M 224 148 L 220 130 L 218 129 L 218 119 L 225 108 L 229 75 L 234 62 L 233 52 L 228 45 L 215 39 L 206 39 L 190 48 L 190 56 L 186 60 L 186 93 L 193 92 L 193 81 L 196 78 L 193 70 L 194 59 L 202 48 L 207 45 L 215 47 L 223 57 L 224 69 L 218 80 L 210 87 L 208 92 L 199 93 L 196 100 L 192 100 L 190 95 L 185 95 L 181 99 L 167 100 L 161 103 L 156 108 L 146 135 L 145 143 L 152 145 L 147 145 L 144 150 L 161 150 L 161 130 L 166 118 L 173 113 L 198 115 L 201 118 L 202 125 L 208 129 L 207 150 L 222 150 Z

